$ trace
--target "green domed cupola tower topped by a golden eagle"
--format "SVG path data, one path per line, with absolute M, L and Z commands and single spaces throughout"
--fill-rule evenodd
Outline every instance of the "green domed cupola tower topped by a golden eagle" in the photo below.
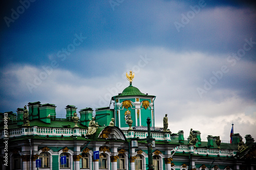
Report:
M 151 118 L 151 126 L 154 127 L 154 100 L 156 96 L 144 94 L 132 85 L 134 78 L 132 71 L 129 75 L 126 73 L 126 78 L 130 81 L 130 86 L 126 87 L 122 93 L 112 97 L 115 103 L 115 125 L 123 130 L 129 129 L 126 121 L 131 116 L 132 127 L 147 126 L 147 117 Z

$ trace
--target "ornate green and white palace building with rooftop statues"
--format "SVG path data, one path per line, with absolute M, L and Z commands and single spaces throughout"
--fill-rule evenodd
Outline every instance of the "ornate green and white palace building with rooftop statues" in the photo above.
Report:
M 198 141 L 189 144 L 182 130 L 172 133 L 155 127 L 155 99 L 130 83 L 112 97 L 113 108 L 94 108 L 98 128 L 93 135 L 87 135 L 93 108 L 77 110 L 67 105 L 66 118 L 57 118 L 54 104 L 28 103 L 29 126 L 23 126 L 24 108 L 17 108 L 16 114 L 1 113 L 0 169 L 147 169 L 147 117 L 151 119 L 156 170 L 256 169 L 256 143 L 250 135 L 245 136 L 245 148 L 240 152 L 239 134 L 233 134 L 232 143 L 219 145 L 216 136 L 201 141 L 200 131 L 193 131 Z M 75 112 L 80 117 L 77 127 L 72 119 Z M 129 116 L 132 130 L 126 123 Z M 111 118 L 115 118 L 114 127 L 108 126 Z M 99 151 L 98 159 L 94 151 Z M 61 158 L 66 164 L 61 164 Z

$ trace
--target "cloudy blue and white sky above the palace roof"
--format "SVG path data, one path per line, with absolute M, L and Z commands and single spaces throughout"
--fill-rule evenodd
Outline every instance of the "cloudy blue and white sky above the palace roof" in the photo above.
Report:
M 0 112 L 77 111 L 129 86 L 156 95 L 156 126 L 256 139 L 256 8 L 246 1 L 2 1 Z M 112 104 L 113 106 L 113 104 Z M 146 121 L 146 117 L 145 117 Z M 244 139 L 245 141 L 245 139 Z

